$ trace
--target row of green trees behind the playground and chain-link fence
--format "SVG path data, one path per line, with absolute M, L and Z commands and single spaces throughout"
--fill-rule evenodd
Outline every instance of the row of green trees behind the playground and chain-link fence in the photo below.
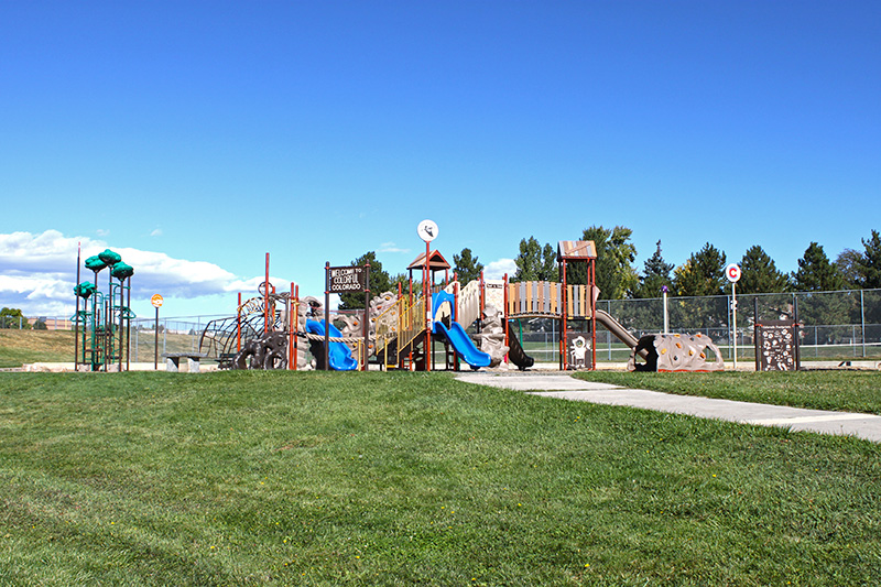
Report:
M 631 241 L 632 235 L 633 231 L 623 226 L 591 226 L 583 231 L 581 240 L 592 240 L 597 247 L 596 283 L 601 300 L 660 297 L 663 287 L 670 295 L 683 297 L 725 295 L 729 291 L 725 276 L 728 257 L 711 243 L 705 243 L 676 267 L 664 259 L 659 240 L 654 253 L 645 260 L 640 271 L 634 265 L 637 248 Z M 798 269 L 792 273 L 780 271 L 764 249 L 753 244 L 739 260 L 742 276 L 738 282 L 738 293 L 881 289 L 881 235 L 878 230 L 871 230 L 871 235 L 861 239 L 861 243 L 862 250 L 845 249 L 833 261 L 822 244 L 811 242 L 798 259 Z M 514 258 L 516 271 L 509 276 L 510 281 L 557 281 L 556 253 L 556 247 L 550 242 L 542 244 L 534 237 L 522 239 Z M 463 283 L 478 279 L 483 270 L 483 264 L 469 248 L 454 254 L 453 261 L 453 271 Z M 362 254 L 351 264 L 368 262 L 372 292 L 395 291 L 399 283 L 406 285 L 407 275 L 390 275 L 382 269 L 374 251 Z M 578 264 L 570 268 L 568 282 L 585 283 L 584 268 Z M 340 307 L 363 307 L 363 295 L 344 294 Z

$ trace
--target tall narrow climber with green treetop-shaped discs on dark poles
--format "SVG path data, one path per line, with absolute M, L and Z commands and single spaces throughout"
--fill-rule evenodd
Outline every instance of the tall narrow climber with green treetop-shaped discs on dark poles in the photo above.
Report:
M 95 274 L 95 281 L 80 281 L 80 257 L 76 260 L 76 313 L 74 324 L 74 368 L 90 371 L 128 370 L 131 341 L 131 278 L 134 269 L 122 258 L 106 249 L 86 259 L 85 267 Z M 108 269 L 108 289 L 98 289 L 98 274 Z M 113 282 L 113 279 L 117 282 Z M 80 300 L 83 308 L 80 309 Z

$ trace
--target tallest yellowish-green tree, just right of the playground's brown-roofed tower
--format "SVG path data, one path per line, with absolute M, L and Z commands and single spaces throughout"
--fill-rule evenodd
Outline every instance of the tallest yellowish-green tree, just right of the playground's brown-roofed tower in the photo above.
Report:
M 592 240 L 597 247 L 596 282 L 600 300 L 623 300 L 639 283 L 633 267 L 637 248 L 630 242 L 633 230 L 617 226 L 612 229 L 591 226 L 581 240 Z M 587 270 L 580 263 L 569 265 L 568 283 L 587 283 Z

